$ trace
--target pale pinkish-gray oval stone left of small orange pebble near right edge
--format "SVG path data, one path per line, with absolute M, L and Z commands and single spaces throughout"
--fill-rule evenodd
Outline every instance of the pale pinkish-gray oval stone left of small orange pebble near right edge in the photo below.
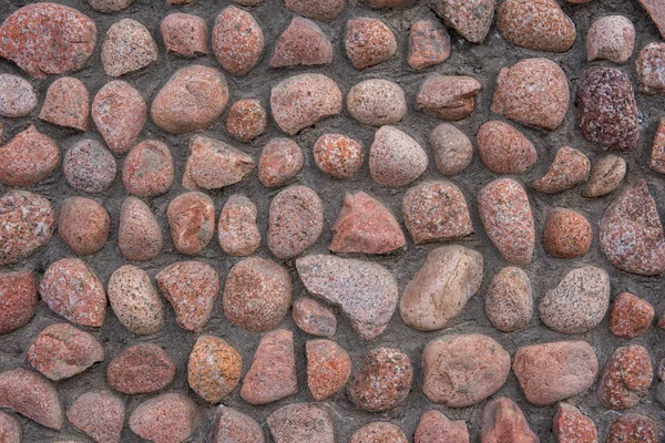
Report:
M 541 299 L 538 310 L 545 326 L 563 333 L 589 332 L 603 320 L 610 306 L 610 276 L 595 266 L 567 272 Z

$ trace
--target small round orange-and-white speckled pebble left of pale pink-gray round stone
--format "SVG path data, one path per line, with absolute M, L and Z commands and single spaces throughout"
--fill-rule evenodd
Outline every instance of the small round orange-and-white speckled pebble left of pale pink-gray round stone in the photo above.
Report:
M 324 134 L 314 144 L 316 166 L 334 178 L 351 179 L 362 167 L 362 146 L 344 134 Z

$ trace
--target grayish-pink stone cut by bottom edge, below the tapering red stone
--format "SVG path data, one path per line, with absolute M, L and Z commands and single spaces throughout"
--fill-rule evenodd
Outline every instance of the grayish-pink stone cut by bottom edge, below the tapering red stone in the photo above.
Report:
M 335 427 L 330 415 L 313 403 L 280 408 L 268 416 L 267 422 L 275 443 L 335 443 Z

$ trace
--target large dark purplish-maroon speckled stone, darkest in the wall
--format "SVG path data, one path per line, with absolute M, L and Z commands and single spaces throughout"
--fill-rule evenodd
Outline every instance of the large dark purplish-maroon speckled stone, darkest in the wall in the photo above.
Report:
M 640 120 L 633 84 L 625 73 L 615 68 L 587 68 L 577 83 L 577 123 L 589 142 L 605 150 L 635 150 Z

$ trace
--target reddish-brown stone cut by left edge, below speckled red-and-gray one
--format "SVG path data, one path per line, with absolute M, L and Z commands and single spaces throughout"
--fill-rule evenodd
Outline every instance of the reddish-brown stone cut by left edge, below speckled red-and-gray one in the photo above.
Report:
M 0 272 L 0 334 L 28 324 L 34 315 L 37 302 L 33 272 Z

